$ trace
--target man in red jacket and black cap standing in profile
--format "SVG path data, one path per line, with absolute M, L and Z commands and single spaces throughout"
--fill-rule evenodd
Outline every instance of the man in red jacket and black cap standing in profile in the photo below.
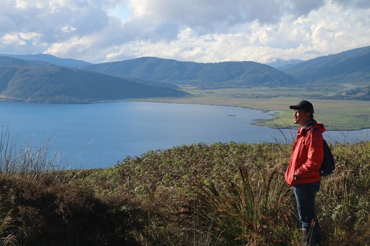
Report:
M 294 109 L 293 120 L 300 128 L 285 181 L 293 185 L 302 226 L 302 242 L 305 245 L 317 245 L 321 232 L 315 213 L 315 196 L 320 188 L 320 167 L 324 159 L 322 133 L 325 127 L 313 119 L 313 105 L 309 101 L 300 101 L 290 108 Z

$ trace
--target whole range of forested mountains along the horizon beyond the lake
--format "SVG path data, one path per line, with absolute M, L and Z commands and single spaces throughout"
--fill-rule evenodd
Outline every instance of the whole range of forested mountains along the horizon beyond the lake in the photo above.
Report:
M 156 57 L 90 65 L 48 55 L 13 57 L 44 62 L 0 57 L 0 98 L 3 100 L 83 103 L 186 95 L 169 89 L 178 89 L 178 85 L 200 90 L 239 88 L 253 91 L 254 87 L 269 87 L 271 92 L 276 91 L 265 94 L 226 93 L 232 97 L 370 100 L 370 46 L 289 64 L 279 67 L 279 70 L 258 62 L 198 63 Z M 83 66 L 85 70 L 76 70 L 45 62 L 86 66 Z M 143 86 L 143 83 L 152 87 Z M 285 90 L 282 87 L 286 87 Z M 362 123 L 349 128 L 361 127 Z

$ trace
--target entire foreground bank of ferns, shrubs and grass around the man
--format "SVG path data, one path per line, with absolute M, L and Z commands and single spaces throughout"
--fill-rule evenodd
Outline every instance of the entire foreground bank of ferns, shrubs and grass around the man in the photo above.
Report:
M 299 245 L 295 198 L 284 181 L 291 149 L 193 144 L 107 169 L 10 173 L 2 158 L 0 244 Z M 322 243 L 366 245 L 370 142 L 332 149 L 336 170 L 317 197 Z

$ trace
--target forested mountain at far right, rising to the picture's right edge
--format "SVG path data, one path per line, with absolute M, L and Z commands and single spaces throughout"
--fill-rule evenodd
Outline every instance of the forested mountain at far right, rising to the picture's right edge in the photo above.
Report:
M 370 46 L 279 67 L 302 83 L 370 81 Z

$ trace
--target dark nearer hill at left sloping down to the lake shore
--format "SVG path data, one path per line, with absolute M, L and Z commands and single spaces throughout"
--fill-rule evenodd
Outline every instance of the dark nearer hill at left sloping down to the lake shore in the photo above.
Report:
M 10 61 L 10 65 L 4 65 Z M 149 86 L 137 79 L 0 57 L 0 98 L 27 102 L 87 103 L 126 98 L 183 96 L 186 92 Z

